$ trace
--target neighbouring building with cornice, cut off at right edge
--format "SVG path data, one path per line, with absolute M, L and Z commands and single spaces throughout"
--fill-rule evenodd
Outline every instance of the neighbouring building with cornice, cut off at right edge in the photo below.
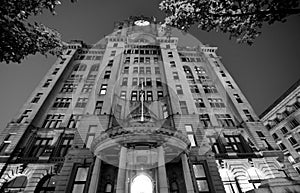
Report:
M 300 174 L 300 80 L 260 117 L 276 144 Z

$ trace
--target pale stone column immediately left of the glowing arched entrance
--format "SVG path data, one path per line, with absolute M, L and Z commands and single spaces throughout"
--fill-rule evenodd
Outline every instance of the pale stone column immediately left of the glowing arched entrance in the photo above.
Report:
M 126 174 L 126 161 L 127 161 L 126 154 L 127 154 L 127 149 L 125 147 L 121 147 L 116 193 L 125 193 L 125 182 L 126 182 L 125 174 Z

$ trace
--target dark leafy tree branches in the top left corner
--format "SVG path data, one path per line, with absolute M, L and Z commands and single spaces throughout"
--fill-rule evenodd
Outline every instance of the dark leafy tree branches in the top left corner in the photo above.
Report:
M 18 62 L 30 54 L 59 55 L 60 34 L 43 24 L 29 23 L 28 17 L 49 10 L 55 14 L 57 0 L 2 0 L 0 4 L 0 62 Z

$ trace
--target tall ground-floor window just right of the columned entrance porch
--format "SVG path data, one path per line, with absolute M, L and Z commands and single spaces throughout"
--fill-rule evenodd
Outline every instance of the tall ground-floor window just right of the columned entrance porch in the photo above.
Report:
M 208 181 L 204 164 L 193 164 L 193 171 L 199 192 L 209 192 Z

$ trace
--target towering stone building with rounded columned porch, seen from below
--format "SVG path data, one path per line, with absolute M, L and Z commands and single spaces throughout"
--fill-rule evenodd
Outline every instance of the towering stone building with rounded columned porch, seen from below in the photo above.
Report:
M 70 42 L 1 129 L 0 192 L 297 191 L 216 50 L 145 17 Z

